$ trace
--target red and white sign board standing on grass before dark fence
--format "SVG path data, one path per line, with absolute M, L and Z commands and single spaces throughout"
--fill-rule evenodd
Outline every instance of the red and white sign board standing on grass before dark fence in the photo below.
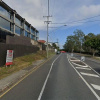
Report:
M 7 50 L 6 67 L 13 64 L 13 50 Z

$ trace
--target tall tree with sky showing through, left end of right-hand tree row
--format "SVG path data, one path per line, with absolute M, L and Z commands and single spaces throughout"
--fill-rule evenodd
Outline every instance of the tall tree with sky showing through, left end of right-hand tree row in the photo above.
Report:
M 81 30 L 74 31 L 74 35 L 68 36 L 64 48 L 70 52 L 81 52 L 84 42 L 84 33 Z

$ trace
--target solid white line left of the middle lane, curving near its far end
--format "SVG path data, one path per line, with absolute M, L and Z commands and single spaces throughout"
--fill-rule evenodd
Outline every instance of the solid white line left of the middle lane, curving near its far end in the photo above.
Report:
M 60 55 L 61 55 L 61 54 L 60 54 Z M 51 70 L 52 70 L 52 67 L 53 67 L 53 64 L 54 64 L 55 61 L 60 57 L 60 55 L 59 55 L 59 56 L 58 56 L 58 57 L 53 61 L 53 63 L 51 64 L 51 67 L 50 67 L 49 73 L 48 73 L 48 75 L 47 75 L 47 77 L 46 77 L 46 80 L 45 80 L 45 82 L 44 82 L 44 84 L 43 84 L 42 90 L 41 90 L 41 92 L 40 92 L 39 97 L 38 97 L 37 100 L 41 100 L 41 97 L 42 97 L 42 95 L 43 95 L 44 89 L 45 89 L 45 87 L 46 87 L 46 84 L 47 84 L 48 78 L 49 78 L 49 76 L 50 76 L 50 73 L 51 73 Z

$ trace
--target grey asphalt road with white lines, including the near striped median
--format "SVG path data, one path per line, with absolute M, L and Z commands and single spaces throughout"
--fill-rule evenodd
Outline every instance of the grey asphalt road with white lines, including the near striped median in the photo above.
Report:
M 99 74 L 69 59 L 67 53 L 55 55 L 0 100 L 100 100 Z

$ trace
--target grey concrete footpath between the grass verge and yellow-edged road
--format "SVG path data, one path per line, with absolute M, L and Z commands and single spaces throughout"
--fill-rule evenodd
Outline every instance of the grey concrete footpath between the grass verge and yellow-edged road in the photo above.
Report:
M 0 80 L 0 93 L 2 93 L 4 90 L 9 88 L 11 85 L 16 83 L 23 76 L 28 74 L 34 67 L 39 66 L 44 61 L 46 61 L 46 59 L 35 61 L 31 66 L 28 66 L 27 68 L 24 68 L 16 73 L 13 73 L 13 74 L 1 79 Z

